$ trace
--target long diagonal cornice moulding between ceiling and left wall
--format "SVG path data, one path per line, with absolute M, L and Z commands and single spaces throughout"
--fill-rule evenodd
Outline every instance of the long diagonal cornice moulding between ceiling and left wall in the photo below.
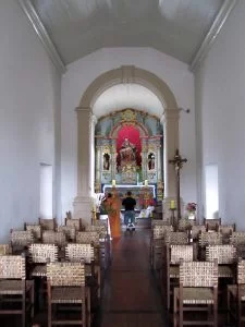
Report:
M 46 51 L 48 52 L 58 71 L 61 74 L 65 73 L 65 64 L 63 63 L 58 50 L 56 49 L 50 36 L 48 35 L 47 29 L 45 28 L 30 0 L 19 0 L 19 3 L 26 16 L 28 17 L 29 22 L 32 23 L 33 28 L 35 29 L 37 36 L 41 40 Z

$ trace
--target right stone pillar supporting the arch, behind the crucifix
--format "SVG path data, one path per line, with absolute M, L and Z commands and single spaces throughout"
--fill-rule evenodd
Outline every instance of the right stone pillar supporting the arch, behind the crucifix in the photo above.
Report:
M 161 122 L 163 123 L 163 167 L 164 167 L 164 215 L 171 215 L 170 201 L 174 199 L 176 203 L 176 174 L 174 166 L 169 164 L 179 148 L 179 118 L 180 111 L 176 109 L 164 109 Z M 176 213 L 175 213 L 176 214 Z

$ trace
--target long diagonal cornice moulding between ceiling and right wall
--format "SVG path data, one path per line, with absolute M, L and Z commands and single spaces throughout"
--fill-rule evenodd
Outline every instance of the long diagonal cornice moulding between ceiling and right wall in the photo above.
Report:
M 191 64 L 189 70 L 195 72 L 196 68 L 204 60 L 208 51 L 210 50 L 212 44 L 215 43 L 217 36 L 219 35 L 223 24 L 228 20 L 230 13 L 236 5 L 240 0 L 225 0 L 220 8 L 209 32 L 207 33 L 205 39 L 203 40 L 199 49 L 197 50 L 196 55 L 194 56 Z

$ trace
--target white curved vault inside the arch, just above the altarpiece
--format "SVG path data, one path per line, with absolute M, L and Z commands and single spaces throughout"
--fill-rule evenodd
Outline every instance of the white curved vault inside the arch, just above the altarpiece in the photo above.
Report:
M 96 100 L 93 112 L 99 118 L 115 110 L 133 108 L 161 118 L 162 104 L 148 88 L 138 84 L 118 84 L 105 90 Z

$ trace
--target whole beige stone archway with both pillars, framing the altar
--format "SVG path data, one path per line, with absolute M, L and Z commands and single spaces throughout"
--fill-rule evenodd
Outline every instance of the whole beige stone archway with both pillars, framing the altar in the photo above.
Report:
M 108 88 L 117 84 L 135 83 L 150 89 L 162 104 L 161 122 L 164 131 L 164 197 L 175 198 L 175 174 L 169 159 L 179 148 L 179 109 L 175 97 L 166 82 L 151 72 L 136 66 L 121 66 L 98 76 L 82 96 L 77 110 L 77 196 L 74 201 L 75 217 L 90 217 L 93 193 L 93 106 Z M 91 146 L 93 145 L 93 146 Z M 88 194 L 88 190 L 90 191 Z M 88 218 L 86 218 L 88 220 Z

